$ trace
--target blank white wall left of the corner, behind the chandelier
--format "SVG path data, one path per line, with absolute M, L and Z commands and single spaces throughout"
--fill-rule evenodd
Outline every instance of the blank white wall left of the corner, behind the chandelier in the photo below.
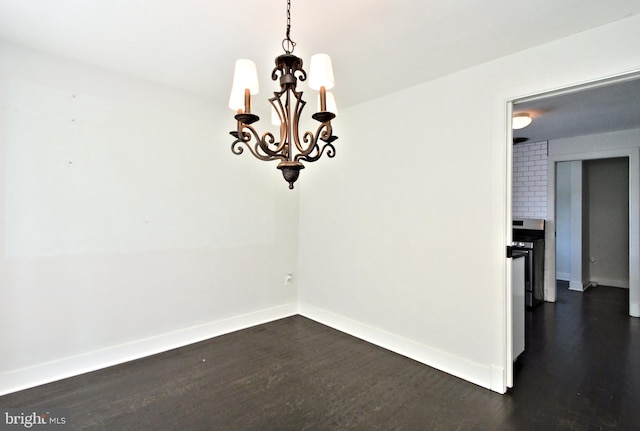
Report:
M 212 106 L 0 45 L 0 393 L 297 311 L 297 190 Z

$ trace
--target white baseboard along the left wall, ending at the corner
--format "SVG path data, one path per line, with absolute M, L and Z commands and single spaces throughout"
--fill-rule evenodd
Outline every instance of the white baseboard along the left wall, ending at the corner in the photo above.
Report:
M 219 335 L 293 316 L 297 313 L 298 305 L 296 303 L 284 304 L 55 362 L 5 372 L 0 374 L 0 395 L 166 352 Z

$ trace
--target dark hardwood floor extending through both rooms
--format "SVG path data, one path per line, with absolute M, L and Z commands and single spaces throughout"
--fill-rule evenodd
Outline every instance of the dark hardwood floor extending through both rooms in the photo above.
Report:
M 527 312 L 506 395 L 295 316 L 0 397 L 74 430 L 640 430 L 627 291 L 559 289 Z M 35 428 L 32 428 L 35 429 Z

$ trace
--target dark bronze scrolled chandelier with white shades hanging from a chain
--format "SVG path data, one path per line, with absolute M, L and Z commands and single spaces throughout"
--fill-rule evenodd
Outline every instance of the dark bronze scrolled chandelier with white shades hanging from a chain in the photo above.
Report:
M 242 154 L 248 148 L 251 154 L 264 161 L 279 160 L 278 169 L 289 183 L 289 189 L 304 169 L 302 161 L 315 162 L 326 152 L 327 157 L 335 156 L 331 120 L 336 116 L 335 99 L 328 92 L 334 85 L 331 58 L 327 54 L 316 54 L 311 57 L 309 69 L 309 87 L 319 92 L 318 112 L 311 118 L 320 125 L 315 133 L 299 130 L 300 116 L 306 102 L 302 99 L 302 91 L 298 91 L 298 80 L 305 81 L 307 73 L 302 68 L 302 59 L 293 55 L 296 46 L 290 38 L 291 32 L 291 0 L 287 0 L 287 33 L 282 41 L 284 54 L 275 60 L 276 67 L 271 79 L 280 80 L 280 91 L 274 91 L 269 99 L 272 109 L 272 122 L 279 126 L 279 140 L 271 132 L 262 136 L 253 124 L 260 117 L 251 113 L 251 96 L 258 93 L 258 74 L 256 65 L 251 60 L 237 60 L 233 75 L 233 86 L 229 98 L 229 108 L 236 111 L 237 129 L 231 131 L 235 138 L 231 144 L 234 154 Z

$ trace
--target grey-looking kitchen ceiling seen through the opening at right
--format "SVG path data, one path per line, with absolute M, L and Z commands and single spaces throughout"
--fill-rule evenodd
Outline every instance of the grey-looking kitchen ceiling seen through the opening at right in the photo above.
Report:
M 533 119 L 513 131 L 526 142 L 640 128 L 640 76 L 515 103 L 513 112 Z

